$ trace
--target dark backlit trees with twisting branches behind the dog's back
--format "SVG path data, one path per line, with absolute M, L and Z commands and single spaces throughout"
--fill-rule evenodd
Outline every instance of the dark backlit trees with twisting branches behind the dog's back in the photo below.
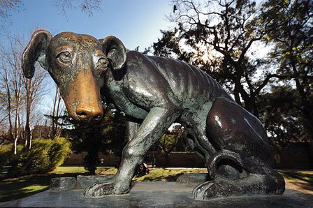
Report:
M 210 73 L 237 103 L 261 117 L 274 146 L 313 141 L 312 1 L 173 4 L 169 18 L 177 26 L 161 31 L 154 54 Z M 256 43 L 264 46 L 263 56 L 253 51 Z

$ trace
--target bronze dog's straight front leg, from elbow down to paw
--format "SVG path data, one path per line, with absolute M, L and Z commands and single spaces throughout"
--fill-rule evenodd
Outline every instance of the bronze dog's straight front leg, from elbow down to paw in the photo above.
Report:
M 101 197 L 128 193 L 136 167 L 143 162 L 145 154 L 152 144 L 161 138 L 161 135 L 179 115 L 180 110 L 173 106 L 152 108 L 136 135 L 124 147 L 121 165 L 112 181 L 94 184 L 86 189 L 84 195 Z

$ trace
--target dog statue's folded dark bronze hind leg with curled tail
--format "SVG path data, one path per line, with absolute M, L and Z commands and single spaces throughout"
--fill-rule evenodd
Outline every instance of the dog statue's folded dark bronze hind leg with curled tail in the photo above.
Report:
M 208 114 L 207 128 L 217 149 L 207 161 L 212 181 L 196 186 L 194 198 L 284 192 L 284 178 L 270 168 L 268 138 L 256 117 L 233 101 L 218 98 Z

